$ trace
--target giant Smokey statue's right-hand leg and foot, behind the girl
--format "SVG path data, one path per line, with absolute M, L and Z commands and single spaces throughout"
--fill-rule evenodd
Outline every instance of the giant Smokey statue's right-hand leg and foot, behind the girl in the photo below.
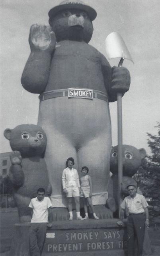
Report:
M 112 218 L 113 213 L 105 207 L 109 181 L 109 158 L 111 151 L 110 133 L 99 133 L 78 150 L 79 170 L 82 166 L 89 168 L 92 179 L 92 203 L 96 215 L 100 218 Z

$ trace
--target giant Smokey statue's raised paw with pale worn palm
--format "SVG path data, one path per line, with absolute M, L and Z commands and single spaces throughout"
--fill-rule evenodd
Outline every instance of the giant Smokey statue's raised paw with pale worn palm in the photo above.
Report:
M 29 44 L 31 50 L 52 52 L 56 45 L 55 33 L 51 31 L 50 26 L 33 24 L 29 33 Z

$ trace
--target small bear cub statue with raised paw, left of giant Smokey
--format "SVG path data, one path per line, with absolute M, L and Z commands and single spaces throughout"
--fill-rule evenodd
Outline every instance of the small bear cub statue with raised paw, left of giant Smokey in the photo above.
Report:
M 20 222 L 31 221 L 29 202 L 43 187 L 48 196 L 52 193 L 47 166 L 44 159 L 47 136 L 34 124 L 21 124 L 4 130 L 13 150 L 10 154 L 10 181 L 14 187 L 14 200 L 18 207 Z

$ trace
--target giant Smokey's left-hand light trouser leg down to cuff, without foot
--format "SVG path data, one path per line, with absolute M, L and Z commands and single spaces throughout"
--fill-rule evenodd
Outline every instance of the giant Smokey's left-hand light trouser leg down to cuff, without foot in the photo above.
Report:
M 57 201 L 57 196 L 61 196 L 61 198 L 64 198 L 65 196 L 62 188 L 62 172 L 66 168 L 66 161 L 69 157 L 74 158 L 75 164 L 73 168 L 77 169 L 77 153 L 70 140 L 65 138 L 65 135 L 60 134 L 54 129 L 52 130 L 52 138 L 50 141 L 47 141 L 45 162 L 49 172 L 49 182 L 53 189 L 51 201 L 53 206 L 57 207 L 60 206 Z M 45 131 L 48 133 L 46 129 Z M 62 205 L 60 207 L 62 207 Z

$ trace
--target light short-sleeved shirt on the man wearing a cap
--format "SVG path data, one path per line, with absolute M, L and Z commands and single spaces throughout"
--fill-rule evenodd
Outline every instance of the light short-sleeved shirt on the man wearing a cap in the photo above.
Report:
M 148 203 L 144 196 L 136 194 L 134 198 L 131 196 L 126 196 L 123 202 L 121 203 L 121 208 L 125 210 L 127 208 L 130 213 L 143 213 L 144 208 L 148 207 Z

